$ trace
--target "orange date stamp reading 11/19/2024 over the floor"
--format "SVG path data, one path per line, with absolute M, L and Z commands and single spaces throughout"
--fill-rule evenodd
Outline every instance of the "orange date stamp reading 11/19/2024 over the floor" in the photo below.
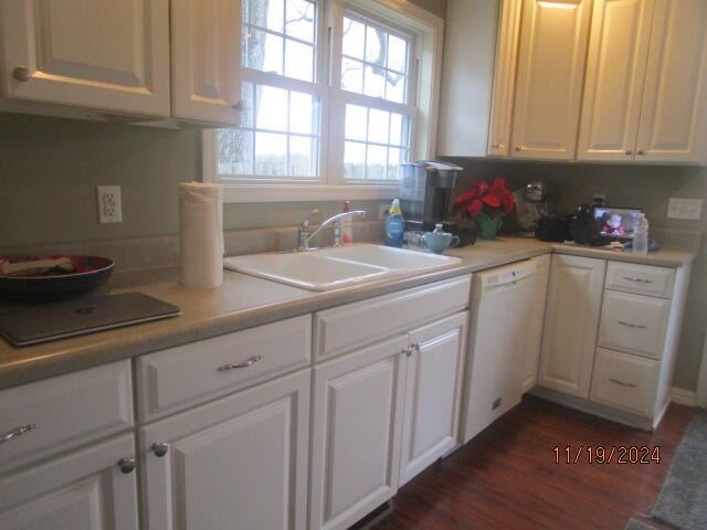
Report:
M 647 445 L 556 445 L 552 447 L 556 464 L 659 464 L 661 446 Z

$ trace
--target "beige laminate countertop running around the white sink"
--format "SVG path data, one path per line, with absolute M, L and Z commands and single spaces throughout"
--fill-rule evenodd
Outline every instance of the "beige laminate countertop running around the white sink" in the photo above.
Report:
M 179 285 L 177 272 L 167 269 L 155 280 L 155 273 L 116 275 L 104 293 L 139 290 L 179 306 L 176 318 L 102 331 L 25 348 L 13 348 L 0 340 L 0 389 L 112 361 L 158 351 L 173 346 L 268 324 L 284 318 L 358 301 L 372 296 L 418 287 L 475 271 L 557 252 L 588 257 L 629 261 L 677 267 L 690 263 L 696 253 L 665 248 L 648 255 L 545 243 L 523 237 L 479 241 L 454 248 L 450 255 L 462 263 L 418 276 L 315 293 L 234 272 L 224 272 L 217 289 L 187 289 Z

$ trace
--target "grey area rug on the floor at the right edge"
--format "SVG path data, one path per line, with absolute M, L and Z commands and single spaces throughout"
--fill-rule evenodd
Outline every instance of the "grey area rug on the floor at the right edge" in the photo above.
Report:
M 707 529 L 707 411 L 685 430 L 651 515 L 682 530 Z

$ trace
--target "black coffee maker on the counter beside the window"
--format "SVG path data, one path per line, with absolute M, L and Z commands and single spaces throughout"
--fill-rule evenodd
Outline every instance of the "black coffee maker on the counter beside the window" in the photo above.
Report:
M 444 222 L 450 193 L 463 170 L 460 166 L 432 160 L 401 166 L 399 198 L 405 231 L 428 232 Z

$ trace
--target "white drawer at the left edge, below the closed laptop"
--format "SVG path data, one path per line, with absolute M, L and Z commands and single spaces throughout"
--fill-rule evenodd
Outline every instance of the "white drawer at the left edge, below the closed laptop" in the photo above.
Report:
M 0 470 L 128 428 L 131 388 L 126 360 L 0 391 Z

